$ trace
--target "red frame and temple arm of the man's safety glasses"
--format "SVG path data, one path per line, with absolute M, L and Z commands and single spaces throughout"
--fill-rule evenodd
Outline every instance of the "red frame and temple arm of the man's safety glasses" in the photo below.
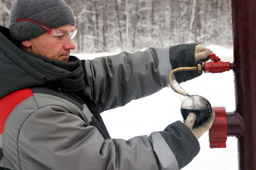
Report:
M 53 36 L 52 34 L 54 34 L 54 31 L 69 33 L 69 35 L 65 38 L 58 38 L 58 36 L 53 36 L 59 42 L 64 42 L 68 38 L 73 39 L 76 36 L 76 33 L 77 33 L 77 28 L 76 27 L 74 27 L 74 30 L 72 32 L 69 32 L 69 31 L 60 31 L 60 30 L 54 29 L 52 27 L 49 27 L 48 25 L 42 24 L 41 22 L 37 22 L 36 20 L 30 19 L 30 18 L 19 18 L 19 19 L 17 19 L 17 22 L 20 22 L 20 21 L 33 22 L 34 24 L 39 25 L 40 27 L 42 27 L 44 29 L 44 31 L 47 32 L 47 34 L 49 34 L 50 36 Z

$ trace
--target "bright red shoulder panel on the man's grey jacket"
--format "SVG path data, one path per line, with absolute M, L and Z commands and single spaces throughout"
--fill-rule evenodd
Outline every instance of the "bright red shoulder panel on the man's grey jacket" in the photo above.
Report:
M 3 134 L 4 124 L 12 110 L 31 96 L 33 96 L 31 89 L 22 89 L 0 99 L 0 134 Z

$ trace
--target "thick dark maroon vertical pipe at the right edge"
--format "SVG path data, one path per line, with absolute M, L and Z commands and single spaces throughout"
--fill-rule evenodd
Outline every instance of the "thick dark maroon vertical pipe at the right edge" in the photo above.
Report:
M 256 169 L 256 1 L 232 0 L 236 113 L 244 120 L 238 138 L 239 169 Z

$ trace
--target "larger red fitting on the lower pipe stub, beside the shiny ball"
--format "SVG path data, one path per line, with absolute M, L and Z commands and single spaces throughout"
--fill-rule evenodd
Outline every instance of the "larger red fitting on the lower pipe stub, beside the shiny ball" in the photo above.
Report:
M 225 107 L 212 107 L 214 122 L 209 130 L 210 148 L 226 148 L 228 125 Z

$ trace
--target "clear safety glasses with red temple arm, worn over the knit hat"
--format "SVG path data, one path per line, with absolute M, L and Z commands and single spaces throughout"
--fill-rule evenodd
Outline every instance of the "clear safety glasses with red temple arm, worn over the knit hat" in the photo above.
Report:
M 29 18 L 17 19 L 17 22 L 20 22 L 20 21 L 30 21 L 30 22 L 33 22 L 33 23 L 39 25 L 40 27 L 42 27 L 44 29 L 44 31 L 47 32 L 47 34 L 53 36 L 54 38 L 57 39 L 57 41 L 60 41 L 60 42 L 64 42 L 68 38 L 73 39 L 76 36 L 76 33 L 77 33 L 76 27 L 74 27 L 74 30 L 72 32 L 68 32 L 68 31 L 60 31 L 60 30 L 57 30 L 57 29 L 53 29 L 53 28 L 49 27 L 48 25 L 42 24 L 40 22 L 37 22 L 36 20 L 32 20 L 32 19 L 29 19 Z

